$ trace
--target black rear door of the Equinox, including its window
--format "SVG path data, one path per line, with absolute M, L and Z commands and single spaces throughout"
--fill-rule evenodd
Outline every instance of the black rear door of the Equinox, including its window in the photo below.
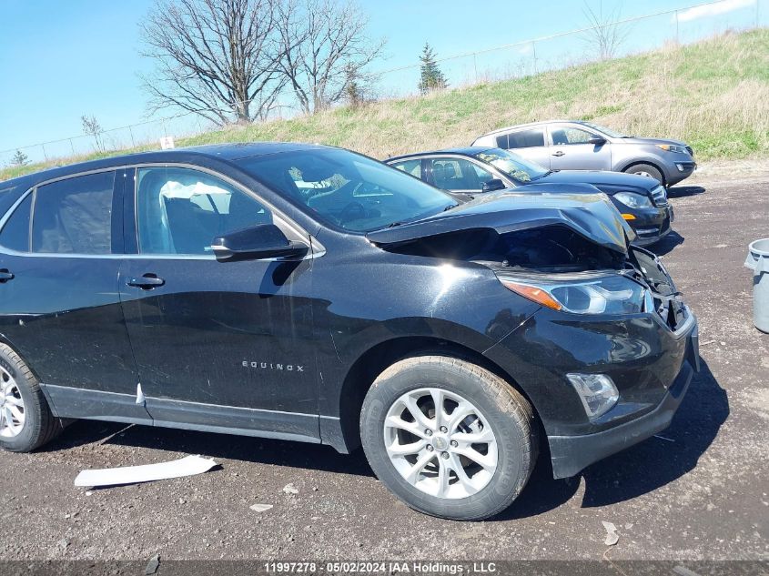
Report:
M 35 187 L 0 231 L 0 332 L 59 416 L 147 420 L 117 289 L 124 170 Z

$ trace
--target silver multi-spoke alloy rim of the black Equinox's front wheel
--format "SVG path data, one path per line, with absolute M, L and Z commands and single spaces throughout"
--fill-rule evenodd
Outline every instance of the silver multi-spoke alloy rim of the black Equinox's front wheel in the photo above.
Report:
M 400 475 L 438 498 L 467 498 L 497 470 L 497 439 L 488 420 L 471 401 L 446 389 L 400 396 L 385 418 L 384 440 Z

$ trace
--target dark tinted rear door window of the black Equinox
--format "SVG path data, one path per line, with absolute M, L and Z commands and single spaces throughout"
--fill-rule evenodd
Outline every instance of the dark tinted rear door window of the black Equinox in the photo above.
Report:
M 110 254 L 115 172 L 100 172 L 38 187 L 32 251 Z

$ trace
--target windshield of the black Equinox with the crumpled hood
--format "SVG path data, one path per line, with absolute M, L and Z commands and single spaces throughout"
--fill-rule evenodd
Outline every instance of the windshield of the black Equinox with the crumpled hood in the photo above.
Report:
M 332 226 L 369 232 L 437 214 L 457 202 L 375 160 L 334 148 L 241 158 L 239 167 Z

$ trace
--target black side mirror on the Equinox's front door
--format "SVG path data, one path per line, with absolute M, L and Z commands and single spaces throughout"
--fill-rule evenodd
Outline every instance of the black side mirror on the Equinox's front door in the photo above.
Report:
M 262 260 L 265 258 L 295 258 L 307 254 L 308 247 L 291 242 L 274 224 L 244 228 L 214 238 L 211 243 L 220 262 Z

